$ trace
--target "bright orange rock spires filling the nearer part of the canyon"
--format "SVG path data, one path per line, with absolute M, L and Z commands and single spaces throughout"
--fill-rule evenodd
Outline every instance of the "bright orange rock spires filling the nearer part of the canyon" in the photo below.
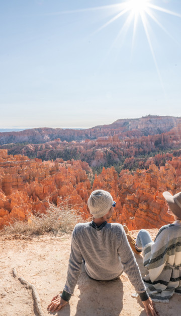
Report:
M 159 158 L 159 159 L 158 159 Z M 162 156 L 157 157 L 162 161 Z M 167 155 L 164 166 L 149 159 L 147 169 L 128 169 L 118 173 L 114 167 L 93 175 L 81 160 L 43 161 L 24 155 L 9 155 L 0 150 L 0 228 L 15 219 L 27 221 L 41 216 L 53 203 L 70 207 L 84 220 L 91 219 L 87 199 L 95 189 L 109 191 L 116 201 L 112 222 L 126 224 L 130 230 L 158 228 L 172 221 L 162 192 L 181 191 L 181 158 Z

